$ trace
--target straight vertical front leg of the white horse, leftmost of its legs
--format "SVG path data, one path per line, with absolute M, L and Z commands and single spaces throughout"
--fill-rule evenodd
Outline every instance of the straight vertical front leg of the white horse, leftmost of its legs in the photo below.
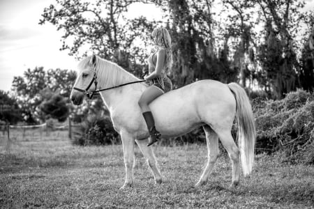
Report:
M 126 167 L 126 180 L 120 189 L 131 187 L 133 183 L 133 160 L 135 139 L 128 132 L 121 133 L 122 145 L 124 148 L 124 165 Z

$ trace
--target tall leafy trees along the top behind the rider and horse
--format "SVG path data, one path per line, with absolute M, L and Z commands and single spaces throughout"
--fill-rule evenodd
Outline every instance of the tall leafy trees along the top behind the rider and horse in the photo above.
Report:
M 153 4 L 163 17 L 128 20 L 135 3 Z M 64 32 L 61 50 L 70 55 L 80 58 L 90 50 L 137 76 L 147 68 L 149 33 L 163 25 L 172 36 L 174 87 L 198 79 L 238 81 L 280 99 L 297 87 L 314 87 L 313 45 L 308 50 L 298 38 L 304 35 L 301 24 L 311 22 L 303 7 L 304 1 L 297 0 L 58 0 L 45 8 L 40 24 L 49 22 Z M 305 33 L 313 35 L 313 24 L 308 26 Z M 313 36 L 304 41 L 313 43 Z

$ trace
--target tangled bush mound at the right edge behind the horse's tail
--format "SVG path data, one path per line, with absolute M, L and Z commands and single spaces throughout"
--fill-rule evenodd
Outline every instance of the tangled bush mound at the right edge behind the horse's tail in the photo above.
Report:
M 278 151 L 285 162 L 313 164 L 314 96 L 298 90 L 283 100 L 260 100 L 257 105 L 257 153 Z

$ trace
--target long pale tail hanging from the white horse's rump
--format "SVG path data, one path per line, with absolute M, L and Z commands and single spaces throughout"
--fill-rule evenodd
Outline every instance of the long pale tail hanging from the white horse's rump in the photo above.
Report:
M 236 83 L 228 84 L 237 104 L 237 139 L 244 176 L 251 173 L 254 164 L 255 123 L 252 106 L 244 88 Z

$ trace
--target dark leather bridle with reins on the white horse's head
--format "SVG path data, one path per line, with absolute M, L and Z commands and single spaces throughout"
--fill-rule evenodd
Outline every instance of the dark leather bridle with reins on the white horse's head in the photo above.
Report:
M 112 86 L 110 88 L 103 88 L 103 89 L 100 89 L 100 90 L 96 90 L 98 82 L 97 82 L 96 62 L 95 62 L 94 63 L 94 76 L 93 76 L 93 79 L 91 79 L 91 82 L 89 82 L 89 85 L 87 86 L 87 88 L 82 89 L 82 88 L 73 87 L 73 89 L 75 89 L 76 91 L 80 91 L 80 92 L 84 93 L 85 95 L 87 95 L 87 98 L 89 98 L 91 100 L 94 95 L 99 95 L 100 91 L 106 91 L 106 90 L 109 90 L 109 89 L 112 89 L 112 88 L 118 88 L 118 87 L 121 87 L 121 86 L 126 86 L 126 85 L 129 85 L 129 84 L 135 84 L 135 83 L 140 83 L 140 82 L 146 82 L 146 80 L 140 80 L 140 81 L 136 81 L 136 82 L 129 82 L 129 83 L 126 83 L 126 84 L 121 84 L 119 86 Z M 93 83 L 95 84 L 95 91 L 89 91 L 89 88 L 91 88 L 91 85 Z

